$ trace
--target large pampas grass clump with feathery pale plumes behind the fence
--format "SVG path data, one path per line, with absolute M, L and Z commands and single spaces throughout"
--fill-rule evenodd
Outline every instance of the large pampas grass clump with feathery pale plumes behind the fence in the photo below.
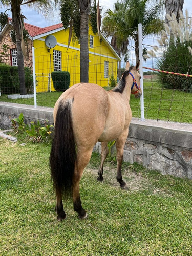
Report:
M 168 25 L 164 25 L 164 30 L 161 32 L 160 39 L 157 39 L 159 46 L 163 46 L 163 54 L 157 61 L 157 67 L 160 70 L 192 74 L 192 27 L 188 22 L 188 11 L 185 12 L 186 17 L 180 13 L 180 20 L 176 16 L 167 16 Z M 154 49 L 160 50 L 159 47 Z M 160 52 L 162 51 L 162 48 Z M 151 53 L 150 53 L 151 52 Z M 151 56 L 156 56 L 152 51 L 149 51 Z M 163 82 L 165 88 L 173 88 L 192 93 L 192 79 L 186 76 L 179 76 L 173 74 L 159 73 L 159 78 Z

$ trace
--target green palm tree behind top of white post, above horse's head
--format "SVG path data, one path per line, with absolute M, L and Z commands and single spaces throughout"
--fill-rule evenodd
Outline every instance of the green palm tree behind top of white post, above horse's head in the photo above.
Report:
M 123 0 L 120 4 L 117 2 L 120 5 L 116 13 L 118 18 L 111 20 L 110 27 L 103 27 L 108 36 L 116 34 L 122 41 L 130 37 L 133 38 L 136 61 L 139 60 L 138 24 L 143 25 L 142 40 L 147 35 L 158 34 L 163 29 L 161 19 L 163 4 L 161 1 L 159 3 L 154 2 L 154 4 L 149 2 L 150 0 Z

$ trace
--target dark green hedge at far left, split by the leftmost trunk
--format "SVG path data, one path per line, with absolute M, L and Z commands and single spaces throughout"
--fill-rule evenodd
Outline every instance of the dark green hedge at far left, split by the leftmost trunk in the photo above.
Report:
M 31 68 L 25 67 L 25 86 L 27 93 L 32 92 L 33 73 Z M 20 93 L 18 67 L 0 64 L 0 90 L 3 94 Z

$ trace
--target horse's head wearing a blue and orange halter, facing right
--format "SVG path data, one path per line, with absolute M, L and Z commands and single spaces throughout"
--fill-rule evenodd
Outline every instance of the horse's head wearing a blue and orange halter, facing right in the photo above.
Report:
M 142 90 L 140 88 L 141 76 L 138 72 L 139 63 L 140 63 L 140 60 L 137 62 L 137 65 L 135 67 L 134 66 L 130 67 L 130 62 L 128 61 L 128 62 L 126 62 L 126 67 L 125 67 L 125 69 L 129 71 L 130 76 L 132 76 L 132 78 L 133 78 L 131 93 L 134 94 L 135 98 L 137 98 L 137 99 L 139 99 L 142 95 Z

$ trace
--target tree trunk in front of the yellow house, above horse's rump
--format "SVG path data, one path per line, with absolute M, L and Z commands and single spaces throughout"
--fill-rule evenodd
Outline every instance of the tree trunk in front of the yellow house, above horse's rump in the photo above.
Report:
M 89 15 L 81 13 L 80 18 L 80 82 L 89 82 Z

